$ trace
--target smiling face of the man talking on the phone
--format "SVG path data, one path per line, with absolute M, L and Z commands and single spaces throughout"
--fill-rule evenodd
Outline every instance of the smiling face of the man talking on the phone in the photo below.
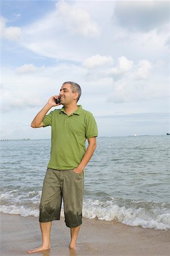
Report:
M 64 84 L 60 89 L 60 103 L 62 105 L 72 104 L 74 101 L 75 93 L 72 92 L 71 84 Z

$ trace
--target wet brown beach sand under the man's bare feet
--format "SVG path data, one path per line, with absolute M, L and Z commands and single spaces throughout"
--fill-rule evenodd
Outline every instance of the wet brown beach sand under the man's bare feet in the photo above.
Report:
M 41 245 L 38 218 L 0 214 L 1 255 L 43 256 L 163 256 L 170 252 L 170 232 L 131 227 L 114 221 L 83 218 L 77 240 L 77 251 L 69 250 L 69 228 L 64 219 L 54 221 L 51 230 L 51 250 L 28 254 L 28 249 Z

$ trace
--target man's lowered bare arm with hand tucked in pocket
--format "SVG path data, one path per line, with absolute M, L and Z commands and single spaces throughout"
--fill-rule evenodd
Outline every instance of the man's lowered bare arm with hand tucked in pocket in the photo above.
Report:
M 84 157 L 82 158 L 80 164 L 78 164 L 78 166 L 74 168 L 74 172 L 76 172 L 77 174 L 81 174 L 86 165 L 89 163 L 94 153 L 94 150 L 96 149 L 96 137 L 89 138 L 88 142 L 89 146 L 86 149 Z

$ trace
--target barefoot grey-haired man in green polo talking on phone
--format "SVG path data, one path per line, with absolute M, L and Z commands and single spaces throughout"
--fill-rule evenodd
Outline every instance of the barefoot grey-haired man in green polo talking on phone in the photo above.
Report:
M 76 241 L 82 223 L 82 198 L 84 193 L 84 168 L 96 148 L 97 125 L 92 113 L 77 105 L 81 96 L 80 85 L 64 82 L 59 96 L 49 98 L 36 115 L 31 127 L 51 126 L 51 158 L 44 178 L 40 203 L 40 228 L 42 246 L 28 253 L 50 248 L 53 220 L 60 219 L 61 200 L 64 201 L 65 223 L 71 228 L 69 247 L 76 250 Z M 60 99 L 61 109 L 47 112 Z M 85 141 L 88 147 L 85 149 Z

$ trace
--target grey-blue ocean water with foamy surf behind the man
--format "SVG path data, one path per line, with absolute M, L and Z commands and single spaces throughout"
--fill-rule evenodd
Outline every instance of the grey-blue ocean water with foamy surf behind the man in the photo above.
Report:
M 97 138 L 83 216 L 170 229 L 169 142 L 168 135 Z M 39 216 L 50 146 L 49 139 L 1 141 L 0 212 Z

